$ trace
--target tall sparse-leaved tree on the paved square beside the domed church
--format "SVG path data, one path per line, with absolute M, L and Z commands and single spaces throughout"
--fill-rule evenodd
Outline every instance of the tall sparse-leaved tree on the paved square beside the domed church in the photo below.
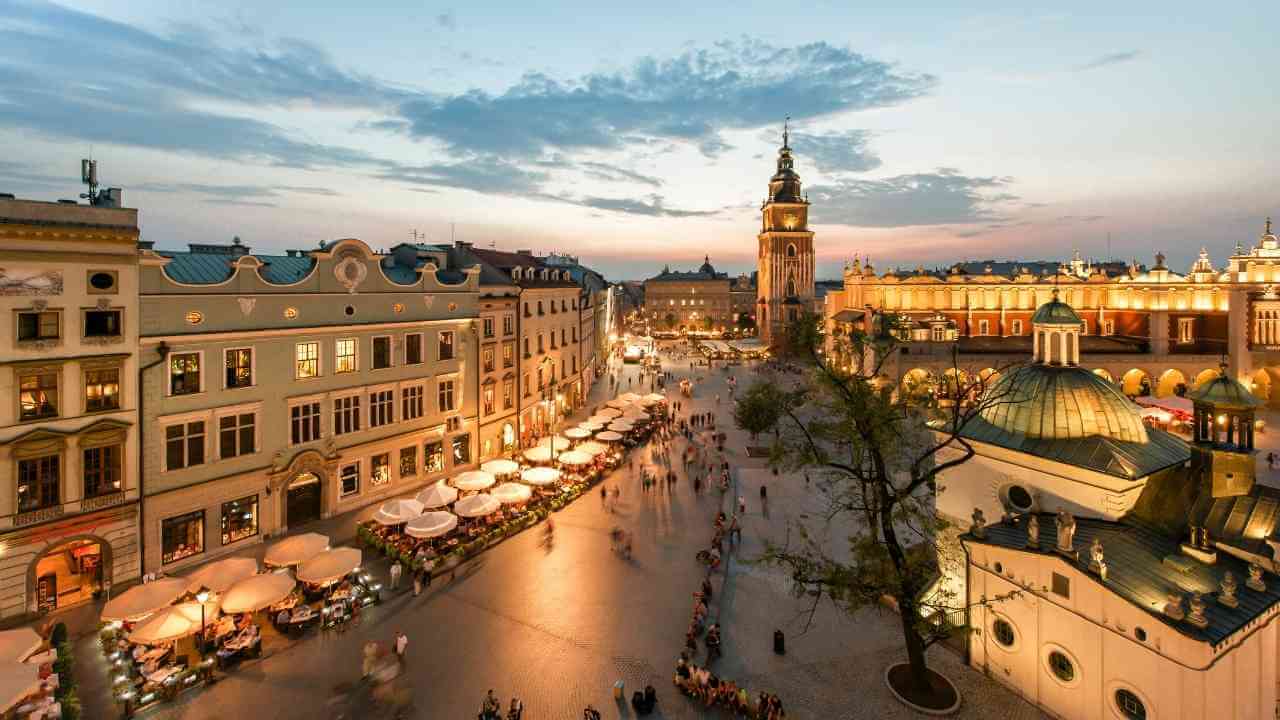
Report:
M 881 327 L 891 328 L 892 322 Z M 988 389 L 986 378 L 959 368 L 951 373 L 950 397 L 900 393 L 881 374 L 900 350 L 892 332 L 833 337 L 828 356 L 841 361 L 824 359 L 824 341 L 817 318 L 794 323 L 786 345 L 806 364 L 804 379 L 786 387 L 778 379 L 756 380 L 735 420 L 763 432 L 771 413 L 778 418 L 781 439 L 772 464 L 819 475 L 815 487 L 827 505 L 826 521 L 844 519 L 852 527 L 849 548 L 833 552 L 819 539 L 824 533 L 812 534 L 800 520 L 790 525 L 786 542 L 767 544 L 762 560 L 786 569 L 797 597 L 812 598 L 810 619 L 823 598 L 850 614 L 892 598 L 908 664 L 905 671 L 891 670 L 891 684 L 918 705 L 946 707 L 946 696 L 955 691 L 936 680 L 925 651 L 956 630 L 947 619 L 966 610 L 966 598 L 945 585 L 931 589 L 947 529 L 934 512 L 936 483 L 974 456 L 961 433 L 979 413 L 1021 398 Z M 957 356 L 952 360 L 956 365 Z

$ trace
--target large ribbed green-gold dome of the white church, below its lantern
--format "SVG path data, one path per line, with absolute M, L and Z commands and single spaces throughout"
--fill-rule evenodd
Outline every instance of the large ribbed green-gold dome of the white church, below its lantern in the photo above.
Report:
M 1041 313 L 1050 305 L 1042 306 Z M 1069 306 L 1062 307 L 1075 316 Z M 988 406 L 980 418 L 1012 437 L 1148 442 L 1138 406 L 1083 368 L 1023 365 L 1001 375 L 986 397 Z

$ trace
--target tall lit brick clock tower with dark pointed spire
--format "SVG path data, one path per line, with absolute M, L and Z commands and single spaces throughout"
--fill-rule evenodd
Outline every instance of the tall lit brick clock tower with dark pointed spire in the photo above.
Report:
M 769 196 L 760 208 L 755 324 L 769 347 L 781 345 L 787 325 L 813 309 L 814 297 L 809 201 L 800 192 L 790 136 L 783 126 L 778 170 L 769 178 Z

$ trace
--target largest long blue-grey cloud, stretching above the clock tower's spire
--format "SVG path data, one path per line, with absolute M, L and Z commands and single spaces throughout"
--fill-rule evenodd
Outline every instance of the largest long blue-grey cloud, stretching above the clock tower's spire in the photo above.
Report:
M 566 81 L 526 73 L 499 94 L 413 97 L 398 115 L 412 137 L 509 158 L 618 149 L 628 136 L 691 142 L 714 155 L 726 147 L 722 129 L 773 124 L 783 111 L 809 119 L 896 105 L 934 82 L 826 42 L 777 47 L 742 40 L 641 58 L 616 73 Z

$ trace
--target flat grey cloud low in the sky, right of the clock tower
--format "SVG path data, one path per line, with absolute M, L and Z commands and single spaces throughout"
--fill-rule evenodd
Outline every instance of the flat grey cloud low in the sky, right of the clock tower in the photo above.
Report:
M 968 224 L 1001 220 L 1016 200 L 1007 177 L 970 177 L 952 168 L 881 179 L 841 178 L 809 188 L 815 222 L 855 227 Z

